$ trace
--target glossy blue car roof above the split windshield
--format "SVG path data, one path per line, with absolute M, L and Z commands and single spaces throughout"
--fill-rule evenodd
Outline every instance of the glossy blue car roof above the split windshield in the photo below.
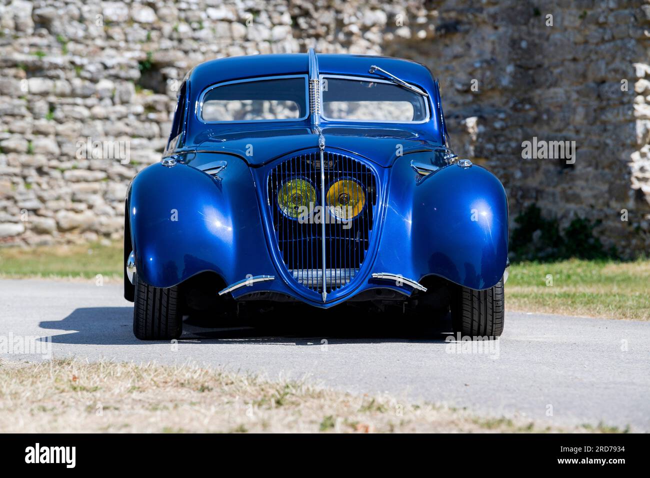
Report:
M 433 86 L 431 72 L 426 66 L 411 60 L 380 57 L 376 55 L 348 55 L 343 53 L 318 53 L 318 72 L 321 75 L 354 75 L 378 77 L 368 72 L 377 65 L 394 75 L 430 92 Z M 307 53 L 282 53 L 273 55 L 247 55 L 203 62 L 190 73 L 192 96 L 200 94 L 207 86 L 223 81 L 266 77 L 274 75 L 301 75 L 309 73 Z

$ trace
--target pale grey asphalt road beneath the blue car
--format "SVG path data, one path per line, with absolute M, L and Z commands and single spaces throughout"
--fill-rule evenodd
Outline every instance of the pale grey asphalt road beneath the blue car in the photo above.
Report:
M 445 341 L 445 324 L 341 313 L 328 320 L 265 316 L 222 328 L 186 323 L 172 351 L 167 342 L 135 339 L 132 314 L 119 284 L 0 280 L 0 336 L 51 336 L 55 358 L 194 362 L 271 379 L 307 375 L 341 390 L 390 392 L 478 414 L 650 431 L 650 323 L 510 312 L 498 350 L 452 353 L 458 350 Z

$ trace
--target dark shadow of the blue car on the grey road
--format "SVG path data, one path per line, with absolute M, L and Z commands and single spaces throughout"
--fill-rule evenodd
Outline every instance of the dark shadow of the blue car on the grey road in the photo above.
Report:
M 42 321 L 41 328 L 64 330 L 52 336 L 53 343 L 79 345 L 144 345 L 168 341 L 140 341 L 133 336 L 133 307 L 78 308 L 60 321 Z M 417 321 L 395 313 L 309 311 L 291 316 L 266 312 L 255 317 L 217 321 L 185 317 L 179 342 L 187 343 L 287 343 L 321 345 L 328 343 L 445 343 L 450 334 L 450 318 Z

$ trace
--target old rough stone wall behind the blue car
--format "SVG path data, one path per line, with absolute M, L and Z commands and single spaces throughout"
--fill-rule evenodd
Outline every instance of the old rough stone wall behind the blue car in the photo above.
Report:
M 602 220 L 623 256 L 646 252 L 649 18 L 641 0 L 0 1 L 0 244 L 118 239 L 189 68 L 316 46 L 426 64 L 452 146 L 502 179 L 512 217 L 535 202 L 561 224 Z M 575 140 L 575 163 L 523 159 L 533 137 Z

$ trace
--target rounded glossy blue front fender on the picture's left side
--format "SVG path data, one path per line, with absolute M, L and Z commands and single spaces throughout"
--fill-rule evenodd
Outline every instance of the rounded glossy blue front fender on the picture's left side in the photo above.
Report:
M 252 260 L 266 239 L 248 166 L 230 156 L 219 176 L 157 163 L 133 179 L 127 200 L 138 278 L 172 287 L 203 271 L 226 284 L 274 274 L 268 253 Z

